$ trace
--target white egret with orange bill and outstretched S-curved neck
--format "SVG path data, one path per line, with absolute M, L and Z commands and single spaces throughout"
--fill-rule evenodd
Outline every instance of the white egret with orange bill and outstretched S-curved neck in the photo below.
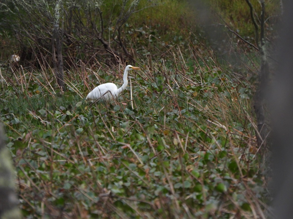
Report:
M 127 65 L 123 74 L 123 84 L 118 89 L 116 84 L 113 83 L 106 83 L 101 84 L 94 88 L 87 96 L 86 100 L 90 100 L 91 102 L 95 100 L 104 100 L 104 101 L 111 101 L 113 98 L 119 97 L 120 93 L 125 90 L 128 84 L 127 74 L 130 70 L 137 69 L 140 70 L 139 67 L 133 67 L 132 65 Z

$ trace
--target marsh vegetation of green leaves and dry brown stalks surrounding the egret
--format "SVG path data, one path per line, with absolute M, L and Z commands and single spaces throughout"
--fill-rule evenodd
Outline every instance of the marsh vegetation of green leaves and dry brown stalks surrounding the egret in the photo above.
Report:
M 123 26 L 142 68 L 130 72 L 132 101 L 129 86 L 117 102 L 85 102 L 99 83 L 120 84 L 123 66 L 102 55 L 68 67 L 64 93 L 46 63 L 1 67 L 0 120 L 25 217 L 264 217 L 266 159 L 251 109 L 259 59 L 233 45 L 243 62 L 226 64 L 188 26 L 188 4 L 164 2 Z M 223 16 L 226 1 L 209 2 Z M 249 14 L 238 16 L 253 37 Z

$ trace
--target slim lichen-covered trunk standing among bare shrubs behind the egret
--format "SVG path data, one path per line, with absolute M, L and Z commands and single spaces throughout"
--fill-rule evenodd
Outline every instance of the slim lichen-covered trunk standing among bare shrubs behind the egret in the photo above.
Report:
M 53 70 L 54 75 L 57 78 L 57 84 L 62 91 L 65 91 L 64 85 L 64 69 L 63 69 L 63 58 L 62 58 L 62 38 L 60 39 L 60 12 L 61 6 L 63 5 L 62 0 L 58 0 L 55 5 L 54 11 L 54 30 L 52 34 L 52 61 L 53 61 Z M 63 34 L 61 34 L 63 36 Z M 56 54 L 57 52 L 57 54 Z M 57 55 L 57 57 L 56 57 Z

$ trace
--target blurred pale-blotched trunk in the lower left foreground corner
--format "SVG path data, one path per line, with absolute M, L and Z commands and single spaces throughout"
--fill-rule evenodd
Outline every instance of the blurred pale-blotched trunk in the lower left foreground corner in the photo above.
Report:
M 0 127 L 0 218 L 22 218 L 15 193 L 11 155 L 5 147 L 4 133 Z

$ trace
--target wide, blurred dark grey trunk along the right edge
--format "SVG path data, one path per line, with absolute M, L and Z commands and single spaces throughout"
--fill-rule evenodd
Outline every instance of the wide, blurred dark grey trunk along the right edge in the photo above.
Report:
M 272 119 L 272 170 L 274 218 L 293 215 L 293 1 L 283 1 L 284 16 L 279 29 L 278 66 L 268 100 Z

